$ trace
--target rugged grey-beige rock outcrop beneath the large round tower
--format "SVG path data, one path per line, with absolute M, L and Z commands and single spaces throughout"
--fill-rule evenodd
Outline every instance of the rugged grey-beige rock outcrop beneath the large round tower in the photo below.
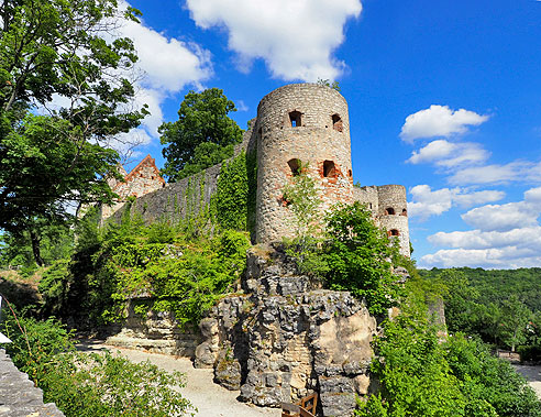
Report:
M 350 416 L 368 393 L 376 320 L 350 293 L 320 289 L 280 252 L 252 253 L 243 295 L 201 321 L 195 364 L 240 399 L 279 407 L 318 392 L 322 416 Z

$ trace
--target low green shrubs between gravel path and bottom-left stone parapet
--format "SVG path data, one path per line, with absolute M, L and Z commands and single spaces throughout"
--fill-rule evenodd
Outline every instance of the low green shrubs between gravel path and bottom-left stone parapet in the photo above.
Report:
M 21 327 L 19 327 L 19 323 Z M 67 417 L 166 417 L 194 415 L 191 404 L 174 389 L 184 386 L 150 362 L 131 363 L 109 352 L 75 352 L 66 329 L 49 319 L 8 317 L 2 332 L 13 343 L 7 352 Z

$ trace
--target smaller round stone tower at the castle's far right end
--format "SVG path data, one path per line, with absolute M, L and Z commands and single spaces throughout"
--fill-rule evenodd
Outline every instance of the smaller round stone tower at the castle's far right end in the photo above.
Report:
M 382 185 L 377 187 L 378 219 L 391 239 L 398 239 L 400 253 L 410 256 L 409 226 L 406 188 L 401 185 Z

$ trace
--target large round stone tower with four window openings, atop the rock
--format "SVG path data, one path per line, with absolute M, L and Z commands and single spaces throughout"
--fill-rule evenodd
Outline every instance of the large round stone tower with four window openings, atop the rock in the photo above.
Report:
M 295 235 L 284 186 L 308 163 L 323 213 L 353 202 L 347 102 L 317 84 L 291 84 L 266 95 L 257 107 L 256 241 Z

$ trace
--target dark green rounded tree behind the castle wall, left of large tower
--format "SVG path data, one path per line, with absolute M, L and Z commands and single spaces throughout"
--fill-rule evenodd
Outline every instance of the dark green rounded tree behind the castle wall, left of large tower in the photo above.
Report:
M 228 117 L 236 111 L 223 90 L 209 88 L 188 92 L 178 110 L 178 120 L 159 127 L 166 158 L 162 173 L 169 182 L 190 176 L 233 156 L 242 141 L 242 129 Z

